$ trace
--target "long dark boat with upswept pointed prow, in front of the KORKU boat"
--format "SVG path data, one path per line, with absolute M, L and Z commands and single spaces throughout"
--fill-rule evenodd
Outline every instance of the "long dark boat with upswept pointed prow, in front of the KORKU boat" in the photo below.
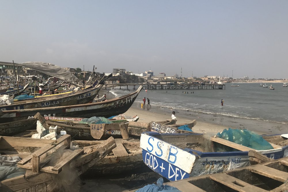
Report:
M 21 119 L 27 119 L 29 118 L 29 116 L 30 118 L 33 117 L 37 112 L 40 112 L 42 115 L 47 116 L 66 116 L 66 117 L 103 116 L 107 118 L 114 115 L 123 114 L 124 112 L 126 112 L 137 98 L 141 89 L 142 86 L 140 86 L 134 93 L 130 93 L 122 97 L 117 97 L 114 99 L 109 99 L 97 103 L 86 103 L 80 105 L 69 105 L 59 107 L 45 107 L 45 108 L 42 107 L 42 108 L 21 109 L 21 110 L 3 110 L 0 112 L 0 121 L 9 122 L 9 121 L 18 121 Z M 46 105 L 46 103 L 44 104 Z

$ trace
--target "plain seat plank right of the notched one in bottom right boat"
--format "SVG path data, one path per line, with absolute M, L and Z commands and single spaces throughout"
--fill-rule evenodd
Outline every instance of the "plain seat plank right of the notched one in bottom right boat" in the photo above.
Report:
M 254 167 L 249 167 L 249 171 L 281 182 L 285 182 L 288 178 L 287 172 L 279 171 L 265 165 L 257 165 Z

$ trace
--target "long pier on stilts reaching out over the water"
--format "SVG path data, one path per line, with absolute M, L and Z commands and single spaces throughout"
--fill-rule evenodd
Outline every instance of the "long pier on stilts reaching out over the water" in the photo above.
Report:
M 144 83 L 144 84 L 104 84 L 105 89 L 115 89 L 115 87 L 119 87 L 117 89 L 127 89 L 128 86 L 133 86 L 133 90 L 137 89 L 137 86 L 142 85 L 143 89 L 225 89 L 225 84 L 195 84 L 195 83 L 187 83 L 187 84 L 175 84 L 175 83 Z

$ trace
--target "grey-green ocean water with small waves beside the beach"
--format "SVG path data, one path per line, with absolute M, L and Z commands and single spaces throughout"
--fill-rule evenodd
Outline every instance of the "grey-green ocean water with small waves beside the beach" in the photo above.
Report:
M 148 97 L 152 106 L 288 124 L 288 87 L 282 87 L 283 83 L 273 83 L 275 90 L 259 86 L 259 83 L 234 85 L 240 86 L 232 87 L 227 83 L 223 90 L 142 90 L 135 102 L 141 103 L 144 97 Z M 129 89 L 132 92 L 132 87 Z M 116 97 L 131 93 L 120 90 L 110 92 Z M 224 106 L 221 106 L 221 99 Z

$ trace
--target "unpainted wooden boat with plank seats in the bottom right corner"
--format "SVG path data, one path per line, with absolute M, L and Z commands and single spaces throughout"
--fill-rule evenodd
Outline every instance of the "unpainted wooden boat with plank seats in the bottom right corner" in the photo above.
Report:
M 223 173 L 203 175 L 164 184 L 176 187 L 183 192 L 282 192 L 288 190 L 287 166 L 288 157 L 285 157 Z

